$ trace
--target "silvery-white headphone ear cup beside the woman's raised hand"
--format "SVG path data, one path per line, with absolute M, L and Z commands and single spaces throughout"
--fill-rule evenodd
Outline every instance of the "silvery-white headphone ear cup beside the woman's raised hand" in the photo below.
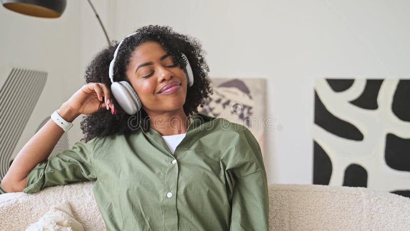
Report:
M 127 81 L 114 82 L 111 84 L 111 92 L 119 106 L 127 112 L 127 114 L 133 115 L 141 109 L 141 101 Z

